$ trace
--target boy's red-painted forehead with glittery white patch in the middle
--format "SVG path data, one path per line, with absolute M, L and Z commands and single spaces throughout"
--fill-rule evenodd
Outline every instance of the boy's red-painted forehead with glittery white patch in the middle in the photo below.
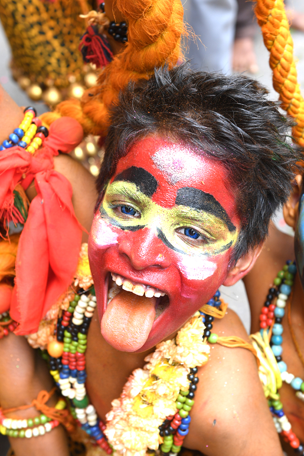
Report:
M 164 207 L 175 204 L 179 189 L 192 187 L 188 198 L 195 198 L 197 189 L 212 195 L 229 215 L 235 211 L 235 196 L 224 167 L 204 156 L 203 150 L 182 142 L 155 137 L 137 141 L 120 159 L 111 181 L 117 178 L 146 188 L 145 193 Z

